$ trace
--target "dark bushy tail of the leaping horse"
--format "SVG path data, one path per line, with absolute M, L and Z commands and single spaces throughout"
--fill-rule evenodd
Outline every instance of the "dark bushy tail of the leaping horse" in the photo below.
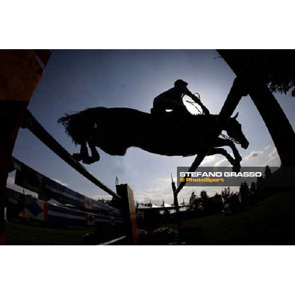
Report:
M 58 123 L 61 123 L 67 135 L 69 135 L 75 145 L 81 145 L 85 141 L 85 131 L 83 130 L 83 116 L 80 113 L 68 115 L 58 119 Z

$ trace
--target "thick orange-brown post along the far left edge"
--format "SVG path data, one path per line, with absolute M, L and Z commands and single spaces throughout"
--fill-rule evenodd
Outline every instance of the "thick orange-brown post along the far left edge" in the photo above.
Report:
M 11 155 L 22 118 L 43 74 L 33 50 L 0 50 L 0 243 Z

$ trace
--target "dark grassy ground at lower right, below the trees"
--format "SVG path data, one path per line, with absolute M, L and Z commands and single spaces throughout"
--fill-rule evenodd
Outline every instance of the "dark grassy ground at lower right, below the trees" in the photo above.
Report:
M 237 215 L 216 214 L 182 224 L 200 228 L 200 236 L 193 244 L 285 245 L 293 244 L 293 222 L 292 199 L 286 192 L 270 196 Z

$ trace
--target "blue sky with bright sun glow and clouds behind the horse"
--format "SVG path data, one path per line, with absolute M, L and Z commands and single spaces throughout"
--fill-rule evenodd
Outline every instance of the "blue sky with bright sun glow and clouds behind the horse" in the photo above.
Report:
M 70 153 L 79 152 L 64 128 L 57 123 L 64 113 L 91 107 L 129 107 L 149 112 L 159 93 L 173 87 L 174 81 L 188 82 L 191 92 L 199 92 L 210 113 L 218 114 L 233 84 L 235 74 L 215 50 L 53 50 L 46 72 L 29 103 L 34 117 Z M 278 102 L 295 128 L 295 99 L 275 93 Z M 250 142 L 244 150 L 242 166 L 279 166 L 280 160 L 267 128 L 249 96 L 243 97 L 236 111 L 237 120 Z M 235 112 L 236 114 L 236 112 Z M 119 122 L 118 122 L 119 126 Z M 116 136 L 116 130 L 110 136 Z M 192 137 L 193 139 L 193 137 Z M 196 128 L 196 144 L 198 130 Z M 228 148 L 226 148 L 228 149 Z M 228 149 L 230 151 L 230 149 Z M 195 156 L 168 157 L 129 148 L 125 156 L 111 156 L 98 148 L 100 161 L 88 170 L 115 190 L 115 178 L 128 183 L 135 200 L 154 204 L 173 202 L 171 173 L 177 166 L 190 166 Z M 31 168 L 69 188 L 95 198 L 108 196 L 88 179 L 80 176 L 27 129 L 20 129 L 14 157 Z M 222 156 L 208 156 L 203 166 L 228 166 Z M 13 187 L 13 174 L 8 186 Z M 179 200 L 188 201 L 192 191 L 185 187 Z M 222 187 L 206 188 L 209 196 Z

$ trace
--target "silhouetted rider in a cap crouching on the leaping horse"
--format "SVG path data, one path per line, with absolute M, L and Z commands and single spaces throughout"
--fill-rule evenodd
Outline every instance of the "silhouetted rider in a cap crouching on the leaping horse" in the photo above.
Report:
M 165 113 L 166 110 L 182 109 L 186 110 L 182 98 L 184 95 L 191 97 L 203 110 L 204 115 L 209 115 L 208 109 L 203 105 L 201 100 L 187 89 L 188 83 L 183 80 L 176 80 L 174 87 L 159 94 L 153 100 L 153 113 Z M 186 110 L 187 111 L 187 110 Z M 188 111 L 187 111 L 188 112 Z

